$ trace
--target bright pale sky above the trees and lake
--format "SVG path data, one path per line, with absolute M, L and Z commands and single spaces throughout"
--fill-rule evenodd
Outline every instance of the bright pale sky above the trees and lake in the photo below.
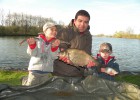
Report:
M 91 16 L 92 35 L 113 35 L 132 29 L 140 34 L 140 0 L 0 0 L 0 10 L 52 18 L 65 25 L 78 10 Z

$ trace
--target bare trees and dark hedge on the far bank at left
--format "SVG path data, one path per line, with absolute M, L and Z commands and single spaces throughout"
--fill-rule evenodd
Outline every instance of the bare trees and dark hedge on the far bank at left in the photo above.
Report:
M 47 22 L 57 24 L 52 18 L 24 13 L 10 13 L 9 11 L 7 15 L 4 15 L 3 9 L 0 9 L 0 36 L 37 35 L 42 32 L 42 27 Z M 64 23 L 60 21 L 58 25 L 58 27 L 62 27 Z

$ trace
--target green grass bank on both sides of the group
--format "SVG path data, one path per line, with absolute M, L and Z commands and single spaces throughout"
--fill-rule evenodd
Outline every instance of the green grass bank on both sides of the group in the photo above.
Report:
M 21 85 L 21 77 L 27 76 L 27 71 L 5 71 L 0 70 L 0 83 L 9 85 Z M 117 81 L 128 82 L 140 86 L 140 75 L 118 75 Z

